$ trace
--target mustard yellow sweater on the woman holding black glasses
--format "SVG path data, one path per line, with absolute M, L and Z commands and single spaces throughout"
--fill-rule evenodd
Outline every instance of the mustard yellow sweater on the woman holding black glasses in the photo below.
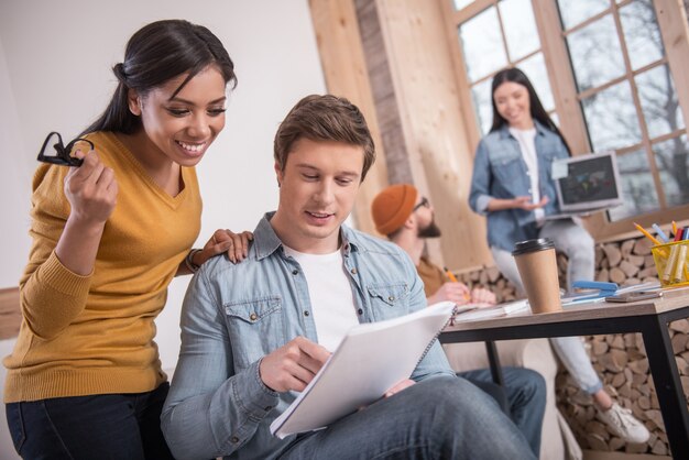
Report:
M 117 206 L 106 223 L 95 269 L 79 276 L 55 256 L 69 215 L 67 167 L 41 165 L 33 180 L 33 238 L 20 280 L 23 320 L 8 369 L 4 402 L 140 393 L 166 380 L 155 324 L 167 285 L 200 230 L 194 168 L 171 197 L 112 133 L 89 139 L 114 169 Z

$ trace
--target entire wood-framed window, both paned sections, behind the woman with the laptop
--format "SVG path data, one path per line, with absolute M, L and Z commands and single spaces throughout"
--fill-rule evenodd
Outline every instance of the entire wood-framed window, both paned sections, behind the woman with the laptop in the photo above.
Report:
M 628 231 L 630 220 L 689 215 L 689 69 L 683 12 L 658 0 L 439 0 L 445 2 L 458 79 L 471 95 L 477 138 L 492 122 L 490 85 L 518 66 L 575 154 L 614 150 L 625 205 L 597 236 Z M 451 3 L 447 8 L 447 2 Z M 660 6 L 660 7 L 659 7 Z M 656 8 L 664 11 L 663 22 Z M 665 29 L 664 29 L 665 28 Z M 683 29 L 682 29 L 683 28 Z M 683 30 L 681 43 L 667 30 Z M 683 110 L 683 112 L 682 112 Z M 475 144 L 474 142 L 474 144 Z

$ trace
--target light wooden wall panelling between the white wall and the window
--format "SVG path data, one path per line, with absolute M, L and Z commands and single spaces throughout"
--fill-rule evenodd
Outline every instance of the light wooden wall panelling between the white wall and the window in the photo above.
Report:
M 381 141 L 375 177 L 357 201 L 359 228 L 373 232 L 369 208 L 381 188 L 411 182 L 430 199 L 444 231 L 429 240 L 431 259 L 452 270 L 492 264 L 485 221 L 468 205 L 473 152 L 438 3 L 310 0 L 310 7 L 328 90 L 360 105 Z

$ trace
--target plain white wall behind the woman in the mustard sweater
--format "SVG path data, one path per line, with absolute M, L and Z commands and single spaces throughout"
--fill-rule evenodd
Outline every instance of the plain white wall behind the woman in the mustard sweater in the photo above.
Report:
M 0 287 L 15 286 L 30 240 L 30 186 L 48 131 L 73 136 L 105 109 L 111 66 L 143 24 L 183 18 L 214 31 L 234 61 L 239 85 L 227 124 L 198 167 L 203 244 L 216 228 L 253 230 L 277 204 L 275 129 L 303 96 L 325 92 L 307 0 L 0 1 Z M 179 306 L 189 277 L 175 280 L 157 320 L 163 365 L 179 348 Z M 13 340 L 0 341 L 7 355 Z M 4 369 L 0 370 L 4 381 Z M 0 459 L 15 458 L 0 414 Z

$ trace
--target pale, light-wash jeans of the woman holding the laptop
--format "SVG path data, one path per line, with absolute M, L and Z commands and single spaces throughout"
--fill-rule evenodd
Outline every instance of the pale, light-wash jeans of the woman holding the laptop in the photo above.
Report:
M 573 281 L 593 280 L 595 264 L 593 239 L 583 228 L 571 219 L 546 221 L 538 237 L 551 239 L 555 248 L 567 254 L 568 288 Z M 520 295 L 524 295 L 524 285 L 512 254 L 494 247 L 491 248 L 491 252 L 497 270 L 516 286 Z M 581 390 L 592 395 L 603 387 L 579 337 L 553 337 L 550 344 Z

